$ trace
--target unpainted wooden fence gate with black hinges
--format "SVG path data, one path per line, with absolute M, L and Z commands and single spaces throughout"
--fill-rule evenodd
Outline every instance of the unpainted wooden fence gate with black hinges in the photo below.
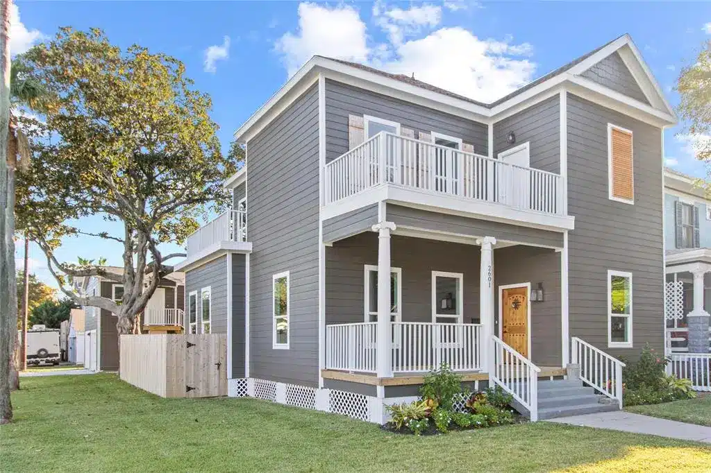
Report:
M 186 398 L 227 396 L 227 339 L 185 335 Z

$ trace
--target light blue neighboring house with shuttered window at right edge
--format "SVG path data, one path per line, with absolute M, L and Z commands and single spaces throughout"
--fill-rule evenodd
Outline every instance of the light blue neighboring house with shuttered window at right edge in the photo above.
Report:
M 671 352 L 710 351 L 711 200 L 695 178 L 664 174 L 666 332 Z

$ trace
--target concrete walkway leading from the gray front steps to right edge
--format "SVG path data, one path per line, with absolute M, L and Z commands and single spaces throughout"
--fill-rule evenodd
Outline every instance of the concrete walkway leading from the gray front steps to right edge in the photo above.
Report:
M 625 411 L 602 412 L 597 414 L 573 415 L 550 419 L 546 422 L 582 425 L 599 429 L 622 430 L 624 432 L 659 435 L 679 440 L 695 440 L 711 443 L 711 427 L 660 419 L 648 415 Z

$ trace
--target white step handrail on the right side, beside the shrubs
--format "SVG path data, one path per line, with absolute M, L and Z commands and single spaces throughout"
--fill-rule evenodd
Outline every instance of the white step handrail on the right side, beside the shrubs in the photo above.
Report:
M 572 364 L 580 366 L 580 379 L 622 408 L 622 368 L 626 365 L 578 337 L 570 337 L 570 354 Z

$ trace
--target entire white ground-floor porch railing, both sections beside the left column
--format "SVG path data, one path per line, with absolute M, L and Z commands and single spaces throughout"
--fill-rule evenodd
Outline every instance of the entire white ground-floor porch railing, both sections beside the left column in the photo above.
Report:
M 326 369 L 375 373 L 377 322 L 326 326 Z M 392 322 L 392 372 L 481 370 L 481 325 Z

